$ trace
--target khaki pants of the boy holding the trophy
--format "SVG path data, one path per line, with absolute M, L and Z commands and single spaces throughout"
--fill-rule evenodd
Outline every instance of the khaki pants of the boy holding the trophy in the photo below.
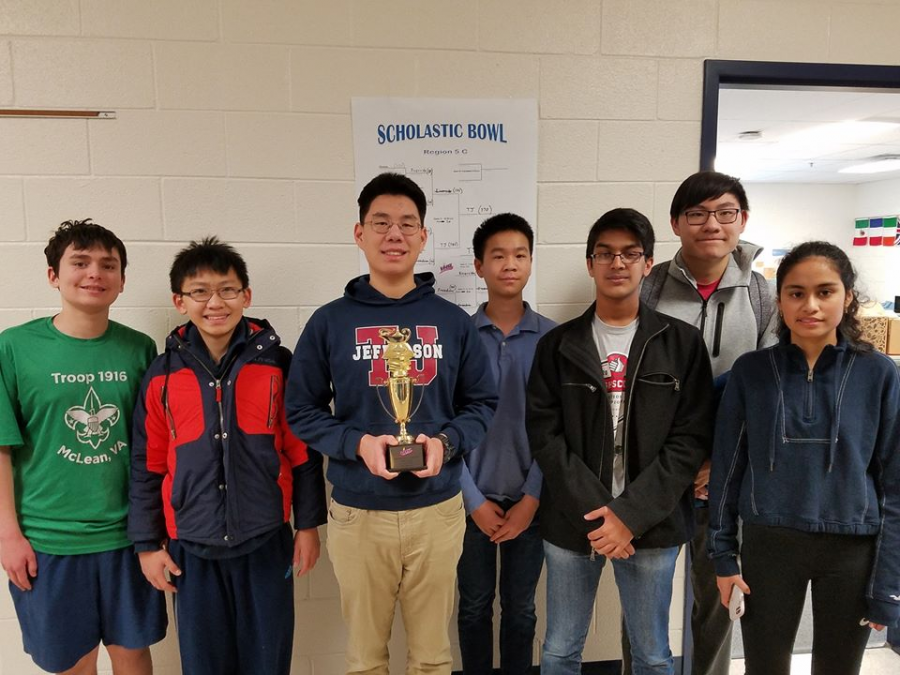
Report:
M 349 632 L 348 674 L 387 675 L 399 600 L 407 675 L 449 675 L 448 626 L 465 528 L 461 495 L 409 511 L 368 511 L 331 501 L 328 556 Z

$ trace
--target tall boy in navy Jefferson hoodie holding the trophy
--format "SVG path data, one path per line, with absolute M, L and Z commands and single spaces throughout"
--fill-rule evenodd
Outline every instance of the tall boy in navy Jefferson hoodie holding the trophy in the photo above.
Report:
M 425 207 L 422 190 L 399 174 L 363 188 L 354 238 L 370 273 L 310 317 L 288 380 L 291 429 L 329 457 L 328 553 L 353 673 L 387 672 L 398 600 L 406 672 L 450 673 L 448 624 L 465 531 L 461 458 L 481 443 L 497 404 L 471 319 L 435 295 L 432 274 L 414 273 L 428 239 Z M 397 423 L 379 403 L 388 377 L 382 328 L 411 333 L 409 375 L 422 403 L 409 428 L 424 445 L 420 471 L 386 466 Z

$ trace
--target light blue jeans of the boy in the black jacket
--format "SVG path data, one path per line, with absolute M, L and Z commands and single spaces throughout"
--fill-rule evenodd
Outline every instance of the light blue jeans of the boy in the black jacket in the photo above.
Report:
M 669 649 L 669 605 L 678 546 L 638 549 L 613 560 L 613 572 L 628 635 L 634 675 L 675 672 Z M 547 635 L 541 675 L 579 675 L 600 573 L 606 558 L 575 553 L 545 541 Z

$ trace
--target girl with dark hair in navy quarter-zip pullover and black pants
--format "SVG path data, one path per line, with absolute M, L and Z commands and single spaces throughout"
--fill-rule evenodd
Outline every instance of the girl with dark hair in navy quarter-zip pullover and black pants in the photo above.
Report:
M 832 244 L 788 253 L 781 340 L 735 362 L 719 409 L 709 552 L 722 603 L 747 594 L 748 675 L 790 673 L 810 583 L 817 675 L 858 673 L 900 620 L 900 377 L 860 339 L 855 282 Z

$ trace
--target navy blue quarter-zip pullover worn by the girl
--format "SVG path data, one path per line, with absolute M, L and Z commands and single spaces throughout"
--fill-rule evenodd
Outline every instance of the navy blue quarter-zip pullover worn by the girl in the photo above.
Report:
M 867 618 L 900 620 L 900 377 L 841 337 L 810 369 L 785 335 L 734 364 L 719 408 L 709 552 L 738 574 L 738 517 L 804 532 L 875 536 Z

